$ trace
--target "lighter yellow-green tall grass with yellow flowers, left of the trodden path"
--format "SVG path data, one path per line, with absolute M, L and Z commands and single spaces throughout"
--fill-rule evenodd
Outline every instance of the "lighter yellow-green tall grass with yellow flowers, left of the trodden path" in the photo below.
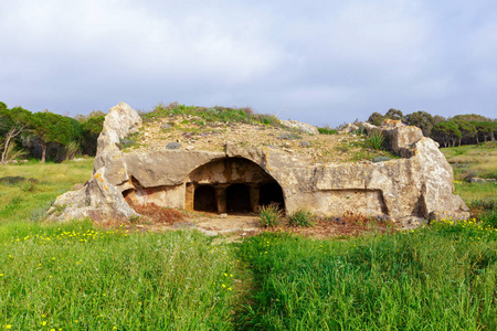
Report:
M 1 328 L 231 328 L 231 249 L 199 233 L 130 234 L 73 224 L 0 237 Z

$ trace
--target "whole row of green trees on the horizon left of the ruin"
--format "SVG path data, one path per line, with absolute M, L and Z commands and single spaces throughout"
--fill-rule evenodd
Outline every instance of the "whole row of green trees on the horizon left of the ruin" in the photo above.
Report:
M 1 163 L 18 157 L 61 162 L 80 153 L 95 156 L 104 118 L 99 110 L 72 118 L 49 110 L 8 108 L 0 102 Z

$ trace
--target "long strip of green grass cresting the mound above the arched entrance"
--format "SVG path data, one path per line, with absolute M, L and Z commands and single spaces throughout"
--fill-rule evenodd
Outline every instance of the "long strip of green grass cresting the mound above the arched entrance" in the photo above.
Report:
M 199 126 L 204 126 L 207 122 L 215 121 L 279 126 L 279 119 L 276 116 L 267 114 L 256 114 L 250 107 L 229 108 L 215 106 L 208 108 L 171 103 L 167 106 L 163 104 L 159 104 L 154 108 L 152 111 L 145 113 L 141 116 L 146 121 L 168 116 L 183 116 Z

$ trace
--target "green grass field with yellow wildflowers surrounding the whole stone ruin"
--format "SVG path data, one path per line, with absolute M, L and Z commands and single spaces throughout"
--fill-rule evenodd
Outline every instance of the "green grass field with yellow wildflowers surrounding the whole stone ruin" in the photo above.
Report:
M 477 220 L 340 239 L 42 222 L 92 163 L 0 167 L 39 180 L 0 181 L 0 330 L 497 329 L 494 183 L 455 184 Z

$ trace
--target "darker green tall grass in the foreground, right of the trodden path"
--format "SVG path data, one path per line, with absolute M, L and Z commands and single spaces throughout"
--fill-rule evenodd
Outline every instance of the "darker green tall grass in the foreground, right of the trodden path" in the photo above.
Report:
M 346 242 L 263 235 L 240 256 L 257 289 L 240 328 L 497 328 L 497 233 L 487 227 L 440 224 Z

